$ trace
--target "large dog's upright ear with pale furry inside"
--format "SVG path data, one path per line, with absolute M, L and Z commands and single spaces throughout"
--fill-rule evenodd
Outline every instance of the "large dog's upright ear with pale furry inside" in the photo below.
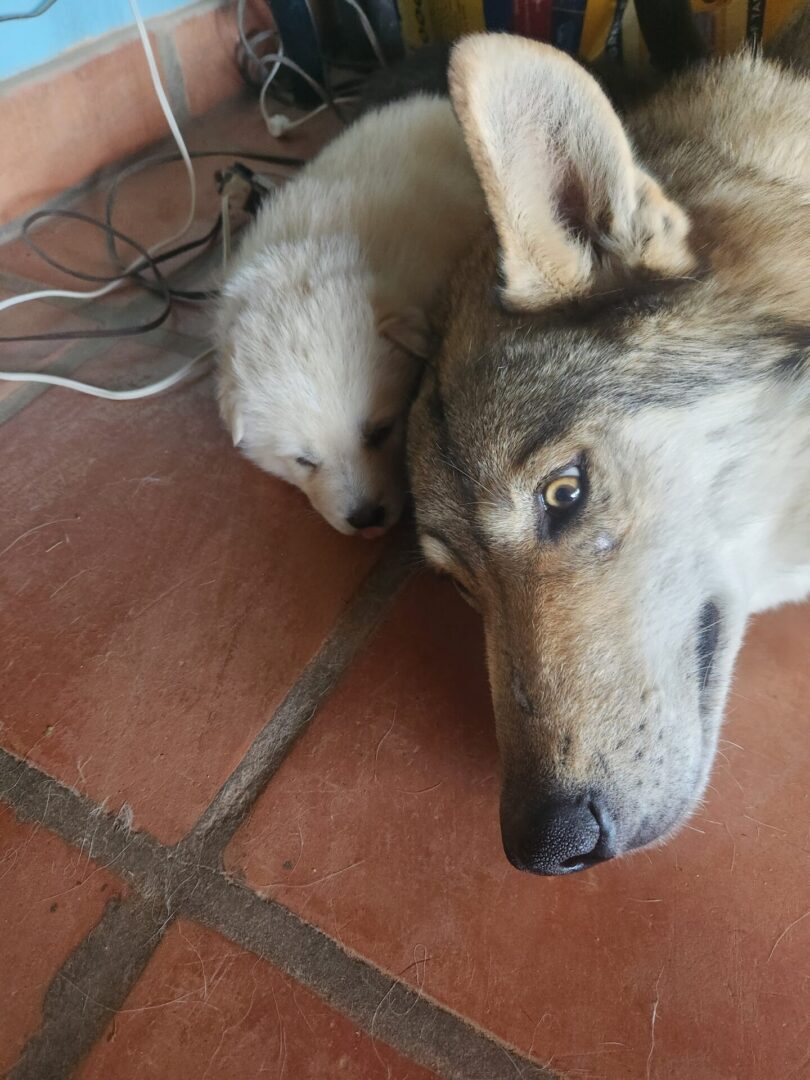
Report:
M 686 215 L 636 165 L 607 97 L 569 56 L 478 33 L 454 49 L 449 77 L 498 231 L 507 305 L 536 310 L 632 268 L 694 265 Z

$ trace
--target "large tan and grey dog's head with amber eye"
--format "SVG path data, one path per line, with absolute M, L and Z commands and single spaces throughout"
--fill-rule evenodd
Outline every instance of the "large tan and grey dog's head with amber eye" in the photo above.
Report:
M 502 36 L 463 41 L 450 77 L 496 235 L 411 414 L 417 524 L 484 619 L 507 854 L 562 874 L 700 798 L 752 592 L 740 522 L 767 516 L 741 488 L 772 464 L 728 415 L 761 393 L 733 375 L 744 321 L 690 276 L 687 217 L 595 82 Z

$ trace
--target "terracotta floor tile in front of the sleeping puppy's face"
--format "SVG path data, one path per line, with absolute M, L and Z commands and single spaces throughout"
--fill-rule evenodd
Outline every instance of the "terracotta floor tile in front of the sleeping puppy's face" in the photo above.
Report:
M 79 377 L 145 376 L 138 346 L 111 356 Z M 50 390 L 0 427 L 0 741 L 165 842 L 381 550 L 244 461 L 212 397 L 211 378 L 143 402 Z

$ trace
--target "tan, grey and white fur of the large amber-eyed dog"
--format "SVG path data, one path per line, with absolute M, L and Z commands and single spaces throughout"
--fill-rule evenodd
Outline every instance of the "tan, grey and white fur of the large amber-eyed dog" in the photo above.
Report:
M 419 531 L 484 618 L 504 839 L 596 793 L 621 853 L 700 799 L 748 616 L 810 590 L 810 80 L 742 54 L 622 127 L 481 35 L 450 85 L 495 228 L 411 416 Z

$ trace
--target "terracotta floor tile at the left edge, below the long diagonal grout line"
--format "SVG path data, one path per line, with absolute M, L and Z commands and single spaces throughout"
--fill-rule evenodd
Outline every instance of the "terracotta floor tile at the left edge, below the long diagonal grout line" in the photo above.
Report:
M 0 1075 L 39 1026 L 42 999 L 123 885 L 53 833 L 0 804 Z

